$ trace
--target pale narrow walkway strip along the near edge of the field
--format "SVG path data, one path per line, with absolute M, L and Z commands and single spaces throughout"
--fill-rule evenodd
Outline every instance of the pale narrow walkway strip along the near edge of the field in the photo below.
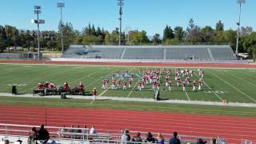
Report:
M 60 95 L 47 95 L 38 96 L 33 94 L 8 94 L 0 93 L 0 97 L 20 97 L 20 98 L 60 98 Z M 78 99 L 91 99 L 92 96 L 81 96 L 81 95 L 66 95 L 67 98 L 78 98 Z M 103 97 L 98 96 L 97 100 L 114 100 L 114 101 L 126 101 L 126 102 L 164 102 L 164 103 L 180 103 L 180 104 L 194 104 L 194 105 L 207 105 L 207 106 L 242 106 L 242 107 L 256 107 L 256 103 L 238 103 L 238 102 L 205 102 L 205 101 L 186 101 L 186 100 L 160 100 L 154 101 L 154 98 L 127 98 L 127 97 Z

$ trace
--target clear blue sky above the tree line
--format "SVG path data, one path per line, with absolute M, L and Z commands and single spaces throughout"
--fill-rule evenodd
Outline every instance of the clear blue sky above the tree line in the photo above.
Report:
M 117 0 L 0 0 L 0 25 L 36 30 L 30 21 L 36 18 L 34 6 L 42 7 L 39 18 L 46 21 L 41 30 L 58 30 L 60 10 L 64 2 L 63 21 L 71 22 L 75 30 L 89 23 L 112 31 L 119 26 Z M 148 35 L 161 34 L 166 25 L 186 30 L 189 19 L 196 25 L 215 27 L 221 20 L 225 29 L 237 29 L 239 6 L 237 0 L 125 0 L 122 30 L 146 30 Z M 242 5 L 241 26 L 256 30 L 256 0 Z

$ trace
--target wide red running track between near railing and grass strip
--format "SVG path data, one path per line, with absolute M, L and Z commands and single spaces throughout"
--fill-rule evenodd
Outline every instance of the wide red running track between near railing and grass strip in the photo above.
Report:
M 0 106 L 0 123 L 96 126 L 103 130 L 139 130 L 225 138 L 228 143 L 242 139 L 256 141 L 256 118 L 170 114 L 132 110 L 98 110 L 35 106 Z

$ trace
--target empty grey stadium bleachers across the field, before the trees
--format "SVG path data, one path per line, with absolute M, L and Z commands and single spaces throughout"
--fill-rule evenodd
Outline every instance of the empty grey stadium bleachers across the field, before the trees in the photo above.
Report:
M 149 60 L 236 60 L 227 45 L 205 46 L 79 46 L 71 45 L 64 58 L 113 58 Z

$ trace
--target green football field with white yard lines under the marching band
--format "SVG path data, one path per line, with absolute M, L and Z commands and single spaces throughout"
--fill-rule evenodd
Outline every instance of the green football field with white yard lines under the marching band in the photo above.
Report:
M 144 67 L 143 67 L 144 68 Z M 122 66 L 58 66 L 58 65 L 0 65 L 0 92 L 10 93 L 11 86 L 18 87 L 18 93 L 32 94 L 37 89 L 38 82 L 53 82 L 55 86 L 62 86 L 68 82 L 71 87 L 83 82 L 86 91 L 96 87 L 98 94 L 102 96 L 130 97 L 130 98 L 153 98 L 154 91 L 150 85 L 145 90 L 139 91 L 135 78 L 133 89 L 130 90 L 102 90 L 102 79 L 111 78 L 113 71 L 132 70 L 138 73 L 139 67 Z M 168 68 L 169 69 L 169 68 Z M 172 74 L 176 68 L 170 68 Z M 196 74 L 198 68 L 195 70 Z M 171 77 L 172 91 L 167 91 L 164 86 L 164 76 L 161 77 L 161 98 L 199 100 L 220 102 L 226 99 L 228 102 L 256 102 L 256 70 L 255 69 L 203 69 L 205 78 L 202 90 L 193 92 L 192 86 L 186 87 L 186 92 L 181 86 L 176 86 L 174 76 Z M 197 76 L 194 78 L 198 80 Z M 111 82 L 110 82 L 111 83 Z

